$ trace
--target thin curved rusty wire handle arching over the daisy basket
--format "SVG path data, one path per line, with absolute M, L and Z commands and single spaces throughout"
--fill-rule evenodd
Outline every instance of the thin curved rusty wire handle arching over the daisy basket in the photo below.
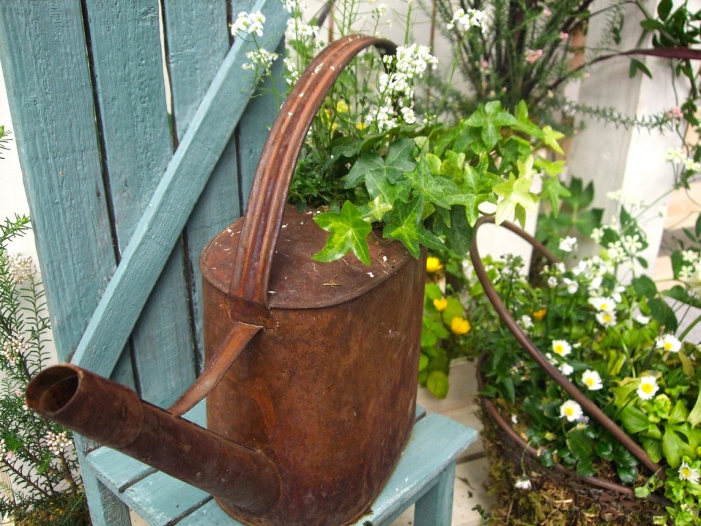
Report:
M 662 471 L 662 466 L 659 464 L 656 464 L 655 462 L 652 461 L 650 458 L 650 455 L 647 454 L 647 452 L 640 447 L 628 434 L 623 431 L 618 424 L 613 422 L 606 414 L 597 407 L 597 405 L 592 402 L 587 396 L 585 396 L 578 388 L 575 386 L 572 382 L 567 379 L 564 375 L 562 375 L 559 370 L 557 370 L 557 367 L 554 367 L 545 356 L 543 356 L 543 353 L 540 353 L 538 350 L 538 347 L 536 347 L 533 342 L 531 342 L 531 339 L 526 335 L 526 333 L 522 330 L 522 328 L 519 327 L 519 324 L 516 322 L 516 320 L 511 316 L 511 313 L 509 310 L 506 308 L 504 302 L 501 300 L 501 297 L 499 297 L 498 293 L 494 289 L 494 285 L 491 284 L 491 281 L 489 280 L 489 276 L 487 276 L 486 271 L 484 269 L 484 264 L 482 264 L 482 258 L 479 256 L 479 250 L 477 248 L 477 229 L 482 224 L 485 223 L 495 223 L 494 217 L 481 217 L 478 221 L 477 224 L 475 224 L 475 236 L 472 238 L 472 245 L 470 246 L 470 258 L 472 259 L 472 265 L 475 267 L 475 274 L 477 274 L 477 278 L 479 279 L 479 283 L 482 283 L 482 287 L 484 288 L 484 293 L 486 296 L 489 298 L 489 301 L 491 304 L 494 306 L 494 309 L 499 315 L 499 318 L 501 318 L 501 321 L 503 321 L 504 325 L 507 326 L 507 328 L 511 331 L 512 335 L 516 337 L 518 340 L 519 344 L 523 346 L 524 349 L 526 349 L 526 352 L 528 352 L 531 355 L 531 358 L 540 365 L 540 367 L 543 367 L 545 372 L 547 372 L 548 375 L 552 379 L 554 379 L 559 386 L 562 387 L 568 393 L 576 402 L 583 407 L 583 409 L 590 414 L 594 419 L 597 419 L 599 424 L 604 426 L 606 428 L 606 431 L 611 433 L 613 437 L 618 440 L 622 445 L 624 445 L 629 452 L 631 452 L 639 461 L 641 461 L 642 464 L 647 466 L 653 473 L 656 473 L 660 478 L 664 478 L 664 472 Z M 552 255 L 552 253 L 545 248 L 545 246 L 540 243 L 536 238 L 533 238 L 530 234 L 527 234 L 524 232 L 522 229 L 519 229 L 519 227 L 515 226 L 514 224 L 511 224 L 509 222 L 504 222 L 500 225 L 501 227 L 505 227 L 509 229 L 510 231 L 514 232 L 521 238 L 523 238 L 525 241 L 528 241 L 533 245 L 533 248 L 538 250 L 542 255 L 544 255 L 547 259 L 550 260 L 550 262 L 557 262 L 557 258 Z

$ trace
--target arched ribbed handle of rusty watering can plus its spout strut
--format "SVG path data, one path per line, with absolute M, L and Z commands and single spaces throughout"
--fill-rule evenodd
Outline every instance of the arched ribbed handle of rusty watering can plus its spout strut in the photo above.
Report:
M 396 52 L 395 44 L 373 36 L 351 35 L 336 40 L 322 50 L 301 74 L 280 109 L 258 162 L 229 285 L 231 304 L 243 302 L 240 304 L 243 308 L 234 310 L 253 312 L 257 319 L 247 320 L 253 323 L 244 323 L 236 320 L 236 313 L 233 313 L 231 332 L 198 379 L 170 406 L 168 411 L 171 414 L 184 414 L 205 398 L 226 375 L 250 339 L 261 330 L 264 311 L 268 309 L 273 252 L 306 133 L 343 68 L 369 46 L 390 55 Z

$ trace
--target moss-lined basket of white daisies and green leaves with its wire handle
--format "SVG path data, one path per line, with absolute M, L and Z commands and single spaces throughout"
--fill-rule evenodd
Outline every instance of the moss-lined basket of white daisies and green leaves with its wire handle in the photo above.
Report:
M 688 232 L 699 234 L 701 222 Z M 508 524 L 701 524 L 698 245 L 675 252 L 679 283 L 665 300 L 639 272 L 647 241 L 625 208 L 592 236 L 599 255 L 578 260 L 574 238 L 564 238 L 559 255 L 571 264 L 550 255 L 536 284 L 522 259 L 472 252 L 470 309 L 486 330 L 470 345 L 484 351 L 494 515 Z

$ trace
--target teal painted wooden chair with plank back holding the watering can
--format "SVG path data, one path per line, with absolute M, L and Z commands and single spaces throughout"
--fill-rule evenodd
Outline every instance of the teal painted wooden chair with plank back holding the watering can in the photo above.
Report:
M 58 356 L 162 407 L 202 367 L 198 255 L 242 213 L 277 111 L 273 97 L 252 97 L 241 67 L 252 43 L 229 34 L 231 13 L 257 10 L 267 19 L 259 43 L 278 50 L 280 0 L 0 2 Z M 203 405 L 187 417 L 203 422 Z M 455 458 L 474 439 L 440 415 L 419 419 L 361 523 L 386 524 L 416 502 L 416 525 L 449 525 Z M 76 445 L 95 526 L 129 525 L 129 508 L 153 525 L 237 524 L 200 490 Z

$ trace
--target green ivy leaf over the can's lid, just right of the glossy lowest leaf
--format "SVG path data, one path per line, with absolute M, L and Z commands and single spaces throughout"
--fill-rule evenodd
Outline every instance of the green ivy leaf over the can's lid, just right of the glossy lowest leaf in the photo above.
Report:
M 444 248 L 440 238 L 423 226 L 422 214 L 422 196 L 416 196 L 409 203 L 400 203 L 388 214 L 388 223 L 382 232 L 386 238 L 397 239 L 404 243 L 411 255 L 417 259 L 421 253 L 421 245 L 435 250 Z

